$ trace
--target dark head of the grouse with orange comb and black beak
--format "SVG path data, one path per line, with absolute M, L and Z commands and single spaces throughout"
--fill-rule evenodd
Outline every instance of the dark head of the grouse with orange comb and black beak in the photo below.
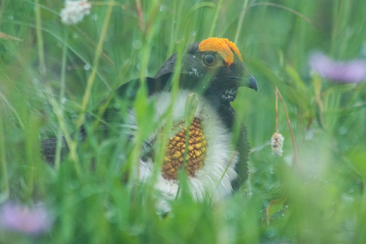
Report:
M 176 53 L 160 68 L 154 78 L 171 74 Z M 236 45 L 226 38 L 212 37 L 195 42 L 183 57 L 180 87 L 202 91 L 222 102 L 234 101 L 241 86 L 257 91 L 257 82 L 243 64 Z

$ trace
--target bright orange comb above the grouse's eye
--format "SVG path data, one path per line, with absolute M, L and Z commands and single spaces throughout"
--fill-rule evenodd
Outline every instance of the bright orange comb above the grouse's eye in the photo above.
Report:
M 234 42 L 229 41 L 227 38 L 210 37 L 201 41 L 198 46 L 200 52 L 212 51 L 218 52 L 225 60 L 226 66 L 230 66 L 234 62 L 234 52 L 243 62 L 242 55 Z

